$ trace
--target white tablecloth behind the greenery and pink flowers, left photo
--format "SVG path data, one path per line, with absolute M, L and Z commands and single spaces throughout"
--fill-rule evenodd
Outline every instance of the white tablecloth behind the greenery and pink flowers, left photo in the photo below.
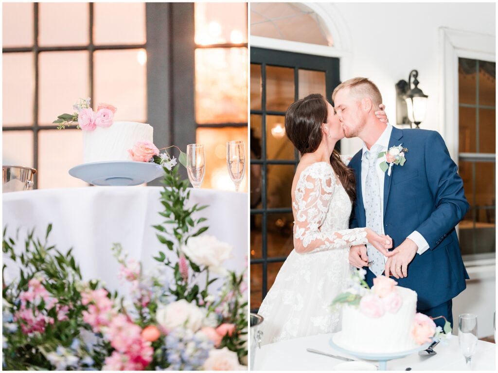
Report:
M 142 260 L 145 268 L 157 263 L 152 256 L 167 247 L 159 243 L 152 228 L 165 221 L 159 202 L 161 187 L 83 187 L 42 189 L 3 193 L 3 222 L 7 237 L 21 228 L 19 244 L 25 232 L 36 228 L 35 237 L 45 237 L 47 225 L 53 229 L 49 243 L 65 252 L 73 248 L 86 279 L 101 278 L 108 288 L 118 289 L 120 265 L 112 255 L 113 243 L 121 243 L 129 257 Z M 194 215 L 206 217 L 205 234 L 234 246 L 233 258 L 226 266 L 241 272 L 247 266 L 248 201 L 246 193 L 193 189 L 189 205 L 210 205 Z M 7 275 L 17 274 L 10 268 Z M 12 269 L 15 269 L 12 272 Z

